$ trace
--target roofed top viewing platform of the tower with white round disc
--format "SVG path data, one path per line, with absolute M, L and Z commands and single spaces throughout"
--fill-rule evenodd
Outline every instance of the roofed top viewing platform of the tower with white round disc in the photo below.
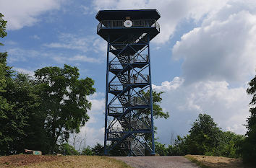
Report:
M 129 22 L 127 22 L 127 17 Z M 134 43 L 138 43 L 139 37 L 144 33 L 148 34 L 151 40 L 160 32 L 160 25 L 157 22 L 160 17 L 156 9 L 102 10 L 96 15 L 99 21 L 97 34 L 105 40 L 108 40 L 108 35 L 110 35 L 110 41 L 115 40 L 116 43 L 123 43 L 127 40 L 127 37 L 118 40 L 116 38 L 129 33 L 136 34 Z

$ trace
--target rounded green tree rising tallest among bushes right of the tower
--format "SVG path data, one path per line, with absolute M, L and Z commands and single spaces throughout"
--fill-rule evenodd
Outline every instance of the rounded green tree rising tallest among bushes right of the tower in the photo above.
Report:
M 219 145 L 221 130 L 210 115 L 200 114 L 189 133 L 187 137 L 189 154 L 205 154 Z

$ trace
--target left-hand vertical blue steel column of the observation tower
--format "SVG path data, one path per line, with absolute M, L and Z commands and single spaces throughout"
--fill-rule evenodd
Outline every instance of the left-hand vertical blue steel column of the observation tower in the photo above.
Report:
M 107 154 L 106 141 L 107 141 L 107 126 L 108 126 L 108 70 L 109 70 L 109 47 L 110 47 L 110 37 L 108 35 L 108 48 L 107 48 L 107 63 L 106 63 L 106 107 L 105 107 L 105 136 L 104 136 L 104 154 Z

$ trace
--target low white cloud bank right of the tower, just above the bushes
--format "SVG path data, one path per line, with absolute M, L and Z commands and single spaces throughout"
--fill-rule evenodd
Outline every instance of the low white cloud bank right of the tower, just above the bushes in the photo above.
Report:
M 199 113 L 211 115 L 223 131 L 244 134 L 249 117 L 249 96 L 244 87 L 229 88 L 226 81 L 199 81 L 183 84 L 179 77 L 164 81 L 155 90 L 165 92 L 161 106 L 170 112 L 168 120 L 156 120 L 158 137 L 168 143 L 169 133 L 186 135 Z

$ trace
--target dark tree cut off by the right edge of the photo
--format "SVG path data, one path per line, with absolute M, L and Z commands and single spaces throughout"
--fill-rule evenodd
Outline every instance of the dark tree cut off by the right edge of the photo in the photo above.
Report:
M 244 162 L 250 162 L 256 164 L 256 76 L 249 81 L 249 87 L 247 94 L 252 95 L 252 101 L 250 105 L 250 116 L 247 119 L 247 137 L 245 138 L 243 145 L 243 159 Z

